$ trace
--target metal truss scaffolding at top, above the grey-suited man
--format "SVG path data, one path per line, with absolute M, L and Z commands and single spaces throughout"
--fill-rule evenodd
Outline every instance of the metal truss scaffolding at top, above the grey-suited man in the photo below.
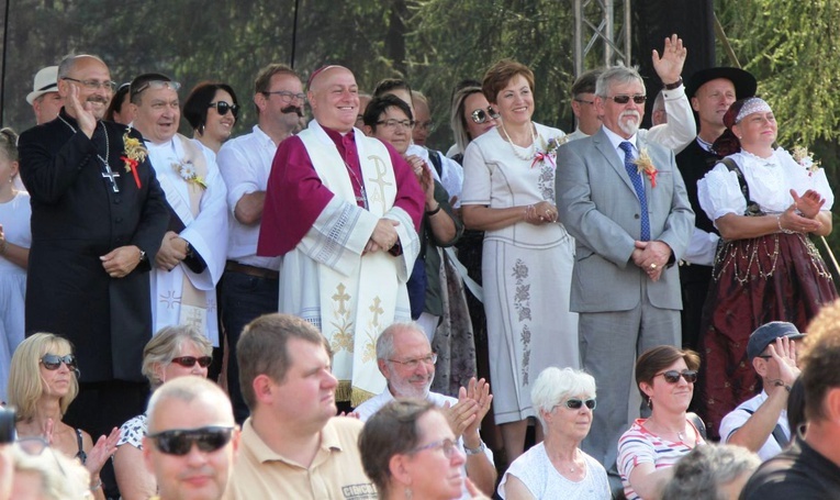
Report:
M 630 64 L 631 0 L 572 0 L 574 9 L 574 76 L 586 68 L 586 55 L 602 47 L 604 65 Z M 619 4 L 620 30 L 616 33 L 616 3 Z

